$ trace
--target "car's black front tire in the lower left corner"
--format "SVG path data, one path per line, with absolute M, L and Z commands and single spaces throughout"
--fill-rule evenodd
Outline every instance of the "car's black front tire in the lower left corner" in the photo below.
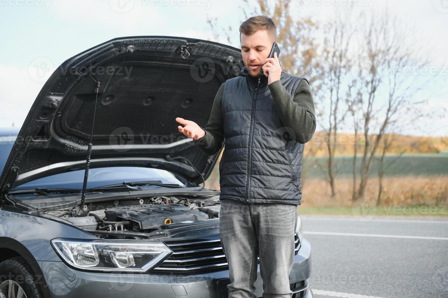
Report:
M 13 289 L 15 295 L 12 297 L 17 297 L 18 293 L 23 292 L 26 298 L 43 298 L 37 280 L 30 264 L 22 257 L 14 257 L 0 263 L 0 297 L 11 297 L 8 292 Z M 25 296 L 22 295 L 23 298 Z

